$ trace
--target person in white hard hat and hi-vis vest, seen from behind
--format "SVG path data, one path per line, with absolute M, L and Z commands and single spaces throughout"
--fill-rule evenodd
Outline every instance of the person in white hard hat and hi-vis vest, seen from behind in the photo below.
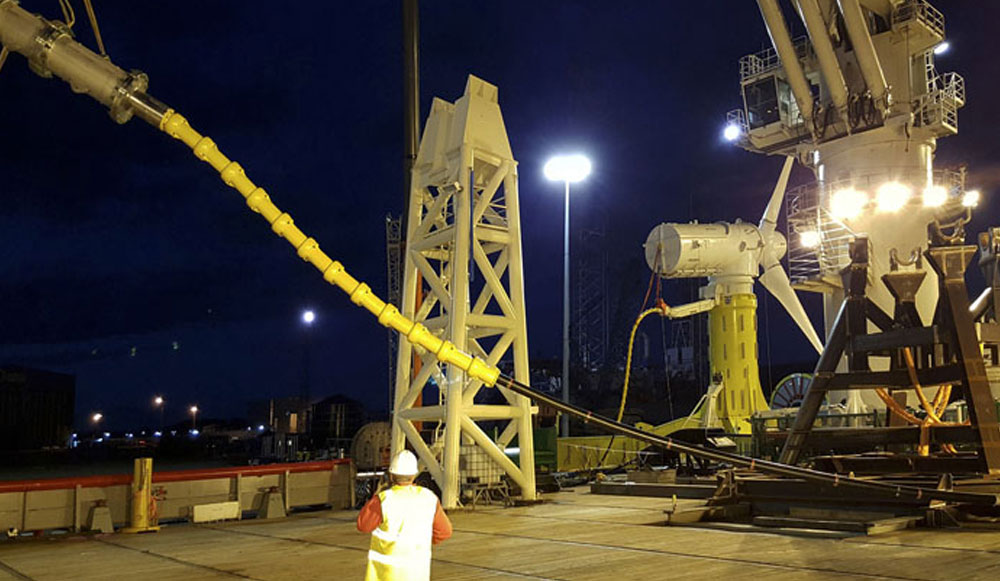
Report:
M 451 537 L 451 521 L 437 496 L 417 486 L 417 458 L 403 450 L 389 464 L 392 488 L 365 503 L 358 530 L 372 534 L 365 581 L 427 581 L 431 545 Z

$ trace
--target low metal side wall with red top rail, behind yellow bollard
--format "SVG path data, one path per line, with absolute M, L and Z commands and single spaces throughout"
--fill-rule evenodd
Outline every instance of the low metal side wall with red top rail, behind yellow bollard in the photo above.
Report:
M 354 505 L 354 465 L 325 460 L 153 473 L 159 519 L 190 519 L 199 504 L 237 501 L 240 512 L 258 511 L 269 491 L 281 492 L 285 510 Z M 90 511 L 104 504 L 115 526 L 126 524 L 131 474 L 0 482 L 0 528 L 22 532 L 81 530 Z

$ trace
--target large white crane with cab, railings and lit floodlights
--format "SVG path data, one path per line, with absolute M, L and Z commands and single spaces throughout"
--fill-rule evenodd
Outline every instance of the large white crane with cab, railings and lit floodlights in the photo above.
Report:
M 792 284 L 823 293 L 829 332 L 848 244 L 863 234 L 867 296 L 891 313 L 882 275 L 923 270 L 917 309 L 929 321 L 938 286 L 920 260 L 928 227 L 967 214 L 979 196 L 964 171 L 933 167 L 937 140 L 958 132 L 965 104 L 962 77 L 934 64 L 944 17 L 926 0 L 789 0 L 808 32 L 793 39 L 779 0 L 758 5 L 773 48 L 740 60 L 743 107 L 729 113 L 726 134 L 749 151 L 795 156 L 815 175 L 787 197 Z

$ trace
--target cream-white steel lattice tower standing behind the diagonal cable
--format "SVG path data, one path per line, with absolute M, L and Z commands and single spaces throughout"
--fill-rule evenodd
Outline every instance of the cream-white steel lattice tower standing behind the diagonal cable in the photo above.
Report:
M 527 384 L 517 162 L 495 86 L 469 76 L 454 104 L 434 99 L 407 211 L 402 312 L 490 364 L 509 357 L 513 377 Z M 502 403 L 477 402 L 481 381 L 406 337 L 397 361 L 393 453 L 409 443 L 441 487 L 444 507 L 458 504 L 461 466 L 475 455 L 533 499 L 535 408 L 528 399 L 499 388 Z M 478 423 L 490 420 L 502 422 L 495 440 Z M 427 440 L 415 422 L 433 428 Z M 515 438 L 520 465 L 504 454 Z

